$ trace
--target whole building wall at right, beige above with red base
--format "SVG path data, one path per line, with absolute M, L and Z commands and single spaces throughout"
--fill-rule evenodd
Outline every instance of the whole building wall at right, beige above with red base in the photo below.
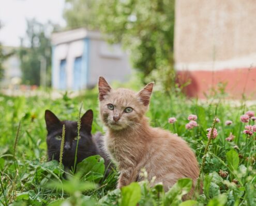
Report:
M 256 98 L 256 0 L 176 0 L 174 58 L 189 96 Z

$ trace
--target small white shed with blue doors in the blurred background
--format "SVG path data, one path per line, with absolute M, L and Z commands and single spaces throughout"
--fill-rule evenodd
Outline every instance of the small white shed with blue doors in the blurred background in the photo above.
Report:
M 98 77 L 126 81 L 131 74 L 121 45 L 109 45 L 98 31 L 85 28 L 53 33 L 52 87 L 59 90 L 91 88 Z

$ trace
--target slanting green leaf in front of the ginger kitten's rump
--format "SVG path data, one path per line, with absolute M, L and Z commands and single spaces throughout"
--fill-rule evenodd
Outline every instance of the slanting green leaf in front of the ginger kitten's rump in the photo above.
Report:
M 178 205 L 182 196 L 189 193 L 192 187 L 192 180 L 189 178 L 179 179 L 170 190 L 165 193 L 164 206 Z

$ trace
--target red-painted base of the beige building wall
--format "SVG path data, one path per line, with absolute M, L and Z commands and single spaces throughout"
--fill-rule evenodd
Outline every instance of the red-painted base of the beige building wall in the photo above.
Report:
M 225 92 L 230 98 L 240 99 L 243 94 L 246 98 L 256 98 L 256 67 L 237 68 L 221 71 L 178 71 L 177 81 L 183 84 L 191 83 L 184 89 L 189 97 L 205 98 L 212 88 L 217 89 L 218 83 L 227 83 Z

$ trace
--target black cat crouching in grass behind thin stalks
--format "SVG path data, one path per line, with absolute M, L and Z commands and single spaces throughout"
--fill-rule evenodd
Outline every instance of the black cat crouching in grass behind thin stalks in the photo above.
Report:
M 45 120 L 47 127 L 47 147 L 48 161 L 59 161 L 59 153 L 61 148 L 62 130 L 65 125 L 65 144 L 63 152 L 63 164 L 71 169 L 74 166 L 74 157 L 77 147 L 78 123 L 74 121 L 60 121 L 57 116 L 50 110 L 45 112 Z M 106 168 L 110 164 L 110 159 L 101 151 L 102 136 L 98 132 L 95 136 L 91 134 L 93 123 L 93 111 L 88 110 L 81 117 L 80 139 L 78 142 L 77 163 L 83 159 L 100 155 L 105 162 Z

